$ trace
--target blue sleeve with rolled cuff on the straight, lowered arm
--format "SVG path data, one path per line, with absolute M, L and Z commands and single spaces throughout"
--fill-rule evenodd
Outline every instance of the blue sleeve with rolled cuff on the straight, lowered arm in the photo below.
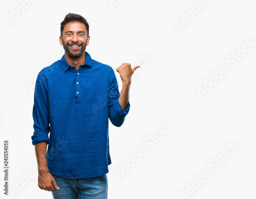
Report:
M 47 90 L 47 77 L 42 70 L 38 74 L 35 83 L 33 105 L 34 134 L 31 137 L 33 145 L 42 141 L 49 142 L 48 134 L 50 132 L 50 118 Z

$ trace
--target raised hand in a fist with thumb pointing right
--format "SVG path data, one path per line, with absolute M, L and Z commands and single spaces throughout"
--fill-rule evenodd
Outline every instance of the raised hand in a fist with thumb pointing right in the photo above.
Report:
M 122 65 L 120 65 L 120 67 L 118 67 L 116 71 L 120 74 L 123 83 L 130 84 L 131 77 L 135 70 L 138 68 L 140 68 L 139 65 L 136 65 L 134 68 L 132 68 L 130 63 L 122 63 Z

